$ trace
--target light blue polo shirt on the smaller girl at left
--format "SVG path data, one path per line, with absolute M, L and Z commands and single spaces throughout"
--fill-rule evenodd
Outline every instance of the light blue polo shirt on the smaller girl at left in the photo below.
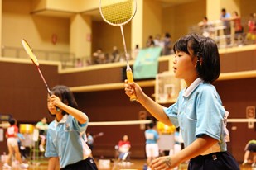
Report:
M 87 126 L 70 115 L 63 116 L 60 122 L 52 121 L 47 131 L 46 157 L 59 157 L 60 168 L 87 158 L 91 153 L 86 144 Z

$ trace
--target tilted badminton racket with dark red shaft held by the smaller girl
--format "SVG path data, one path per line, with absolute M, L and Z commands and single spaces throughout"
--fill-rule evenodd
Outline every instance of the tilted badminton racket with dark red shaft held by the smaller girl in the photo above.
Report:
M 41 73 L 41 69 L 39 67 L 39 62 L 36 58 L 36 55 L 33 53 L 31 46 L 28 45 L 27 41 L 22 39 L 22 46 L 24 48 L 24 50 L 27 52 L 28 56 L 30 57 L 30 59 L 32 60 L 33 64 L 36 65 L 37 71 L 40 74 L 41 79 L 43 80 L 43 82 L 45 83 L 46 86 L 46 90 L 49 93 L 49 95 L 51 96 L 53 93 L 51 92 L 51 90 L 49 89 L 47 83 L 46 83 L 46 79 L 44 78 L 43 74 Z M 56 106 L 57 111 L 59 111 L 59 108 Z

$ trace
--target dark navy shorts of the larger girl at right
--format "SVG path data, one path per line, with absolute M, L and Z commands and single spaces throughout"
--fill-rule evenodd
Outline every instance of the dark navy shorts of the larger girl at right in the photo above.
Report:
M 228 152 L 210 153 L 190 160 L 188 170 L 239 170 L 239 163 Z

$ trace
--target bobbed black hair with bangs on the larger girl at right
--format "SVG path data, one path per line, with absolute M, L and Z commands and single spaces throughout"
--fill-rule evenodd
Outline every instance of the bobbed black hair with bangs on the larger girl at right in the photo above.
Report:
M 176 41 L 174 52 L 182 51 L 197 57 L 196 70 L 205 82 L 213 83 L 220 76 L 220 54 L 214 40 L 202 35 L 185 35 Z

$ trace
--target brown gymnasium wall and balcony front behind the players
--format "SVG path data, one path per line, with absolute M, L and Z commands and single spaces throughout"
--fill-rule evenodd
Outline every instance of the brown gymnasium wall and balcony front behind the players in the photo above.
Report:
M 255 48 L 256 49 L 256 48 Z M 222 73 L 255 70 L 255 49 L 221 53 Z M 167 71 L 168 60 L 160 59 L 159 73 Z M 41 64 L 41 70 L 49 87 L 64 84 L 69 87 L 94 86 L 108 83 L 123 83 L 122 68 L 125 64 L 106 68 L 74 69 L 58 73 L 58 66 Z M 91 66 L 93 67 L 93 66 Z M 10 113 L 19 122 L 36 123 L 42 116 L 49 116 L 46 109 L 46 89 L 35 66 L 27 63 L 0 62 L 0 113 Z M 152 80 L 148 80 L 152 81 Z M 140 82 L 140 81 L 138 81 Z M 147 82 L 147 81 L 146 81 Z M 220 93 L 225 109 L 230 112 L 229 118 L 245 118 L 246 106 L 256 103 L 256 75 L 251 78 L 221 79 L 215 86 Z M 148 96 L 153 97 L 154 85 L 142 87 Z M 138 112 L 144 110 L 138 102 L 129 102 L 123 87 L 112 90 L 85 92 L 74 91 L 80 110 L 85 111 L 90 122 L 138 120 Z M 165 104 L 170 106 L 171 103 Z M 148 115 L 149 116 L 149 115 Z M 52 120 L 51 116 L 49 119 Z M 244 145 L 256 135 L 255 129 L 248 129 L 247 123 L 229 123 L 231 142 L 228 149 L 239 161 L 243 160 Z M 128 135 L 132 143 L 132 158 L 145 158 L 145 139 L 139 125 L 89 126 L 93 134 L 104 132 L 94 141 L 94 156 L 114 158 L 114 145 L 123 135 Z M 246 133 L 244 133 L 246 132 Z M 0 142 L 0 153 L 7 151 L 6 141 Z

